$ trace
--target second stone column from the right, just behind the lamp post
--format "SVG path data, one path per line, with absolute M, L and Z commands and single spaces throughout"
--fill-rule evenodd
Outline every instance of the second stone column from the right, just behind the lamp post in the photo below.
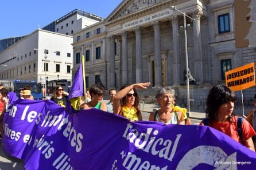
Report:
M 179 41 L 179 22 L 177 16 L 170 18 L 172 22 L 172 41 L 173 41 L 173 84 L 181 84 L 181 56 Z

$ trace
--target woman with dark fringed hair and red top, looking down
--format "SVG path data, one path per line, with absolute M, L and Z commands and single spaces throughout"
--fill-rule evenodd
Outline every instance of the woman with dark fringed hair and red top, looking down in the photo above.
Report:
M 235 141 L 245 145 L 245 147 L 255 151 L 253 140 L 251 139 L 256 133 L 247 120 L 242 121 L 242 136 L 238 132 L 238 116 L 234 111 L 236 102 L 235 93 L 224 85 L 214 86 L 208 94 L 206 101 L 206 110 L 208 114 L 207 124 L 212 128 L 232 137 Z M 204 120 L 200 125 L 204 125 Z

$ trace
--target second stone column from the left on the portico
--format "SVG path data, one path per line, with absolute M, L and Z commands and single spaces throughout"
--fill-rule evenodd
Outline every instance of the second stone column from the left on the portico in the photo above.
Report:
M 128 84 L 127 33 L 122 32 L 122 85 Z

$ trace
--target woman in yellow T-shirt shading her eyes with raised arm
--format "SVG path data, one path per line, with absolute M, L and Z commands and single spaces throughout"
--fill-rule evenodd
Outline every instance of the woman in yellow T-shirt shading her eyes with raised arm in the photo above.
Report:
M 130 121 L 142 120 L 139 110 L 139 97 L 136 88 L 146 89 L 150 82 L 123 86 L 114 97 L 114 113 L 123 116 Z

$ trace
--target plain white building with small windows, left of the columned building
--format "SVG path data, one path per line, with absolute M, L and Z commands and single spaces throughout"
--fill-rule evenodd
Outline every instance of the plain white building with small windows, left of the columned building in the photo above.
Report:
M 1 80 L 71 80 L 72 36 L 38 29 L 0 53 Z

